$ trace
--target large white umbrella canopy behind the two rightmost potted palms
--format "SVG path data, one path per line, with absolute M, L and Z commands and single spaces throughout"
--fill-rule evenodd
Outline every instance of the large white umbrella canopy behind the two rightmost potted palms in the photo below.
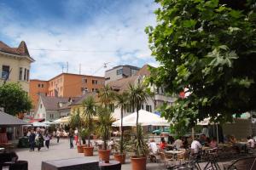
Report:
M 123 118 L 123 126 L 124 127 L 136 127 L 136 120 L 137 120 L 137 112 L 132 113 L 131 115 L 125 116 Z M 139 111 L 139 119 L 138 122 L 142 126 L 170 126 L 170 122 L 167 122 L 166 119 L 148 112 L 144 110 Z M 121 126 L 121 120 L 118 120 L 116 122 L 113 122 L 113 127 L 120 127 Z

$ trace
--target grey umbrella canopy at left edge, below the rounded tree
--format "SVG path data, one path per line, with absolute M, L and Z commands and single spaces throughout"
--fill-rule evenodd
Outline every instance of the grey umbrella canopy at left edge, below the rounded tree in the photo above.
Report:
M 11 116 L 3 111 L 0 111 L 0 127 L 15 127 L 19 125 L 26 125 L 28 122 L 24 122 L 15 116 Z

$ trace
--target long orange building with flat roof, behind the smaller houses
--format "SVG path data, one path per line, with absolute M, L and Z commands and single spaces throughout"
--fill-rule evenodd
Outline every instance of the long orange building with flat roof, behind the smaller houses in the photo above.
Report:
M 38 93 L 47 94 L 47 96 L 55 97 L 78 97 L 86 92 L 94 92 L 104 87 L 104 77 L 93 77 L 87 75 L 61 73 L 60 75 L 51 78 L 49 81 L 30 81 L 30 96 L 32 96 L 33 105 L 38 103 Z M 42 86 L 38 84 L 44 84 L 46 89 L 43 90 Z M 34 97 L 37 96 L 37 97 Z

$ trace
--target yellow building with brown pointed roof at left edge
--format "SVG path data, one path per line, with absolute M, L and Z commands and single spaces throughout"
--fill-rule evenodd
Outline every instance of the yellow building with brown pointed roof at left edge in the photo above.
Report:
M 19 82 L 29 92 L 30 65 L 34 59 L 28 53 L 25 42 L 18 48 L 11 48 L 0 41 L 0 84 L 3 82 Z

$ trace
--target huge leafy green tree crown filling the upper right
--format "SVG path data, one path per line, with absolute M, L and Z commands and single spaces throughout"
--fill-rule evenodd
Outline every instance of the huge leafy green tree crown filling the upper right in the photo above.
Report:
M 256 4 L 253 0 L 156 0 L 149 46 L 160 67 L 151 81 L 190 95 L 164 105 L 173 122 L 228 121 L 256 108 Z M 219 114 L 218 114 L 219 113 Z

